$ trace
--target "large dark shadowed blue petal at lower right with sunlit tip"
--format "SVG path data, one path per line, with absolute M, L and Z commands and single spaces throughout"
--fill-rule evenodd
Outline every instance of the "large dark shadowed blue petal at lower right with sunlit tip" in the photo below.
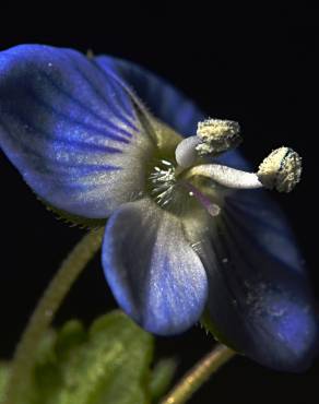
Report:
M 318 353 L 318 312 L 295 240 L 263 191 L 228 197 L 199 253 L 226 341 L 264 366 L 306 369 Z

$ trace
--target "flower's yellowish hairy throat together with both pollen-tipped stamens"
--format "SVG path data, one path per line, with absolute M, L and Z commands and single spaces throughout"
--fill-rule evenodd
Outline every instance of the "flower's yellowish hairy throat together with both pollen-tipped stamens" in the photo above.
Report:
M 158 206 L 176 215 L 191 215 L 193 209 L 204 209 L 217 216 L 225 197 L 234 189 L 265 187 L 290 192 L 299 181 L 300 157 L 288 147 L 273 151 L 257 173 L 210 162 L 236 147 L 240 139 L 236 122 L 200 122 L 196 136 L 182 139 L 174 151 L 166 147 L 161 151 L 163 154 L 154 156 L 146 175 L 146 192 Z

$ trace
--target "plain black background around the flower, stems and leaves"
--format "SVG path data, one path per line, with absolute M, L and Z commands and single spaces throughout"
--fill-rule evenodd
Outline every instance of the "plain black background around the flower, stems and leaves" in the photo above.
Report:
M 208 5 L 209 4 L 209 5 Z M 73 47 L 130 59 L 165 76 L 208 115 L 241 123 L 243 152 L 257 165 L 290 145 L 304 157 L 302 183 L 274 195 L 286 211 L 319 296 L 317 270 L 318 13 L 290 5 L 221 7 L 216 2 L 126 2 L 101 8 L 46 4 L 2 14 L 0 48 L 21 43 Z M 10 26 L 10 27 L 9 27 Z M 1 166 L 0 356 L 9 357 L 27 317 L 82 231 L 58 222 L 35 199 L 3 155 Z M 98 258 L 57 317 L 87 323 L 116 307 Z M 210 349 L 200 329 L 162 338 L 158 355 L 179 357 L 179 375 Z M 304 375 L 277 373 L 236 358 L 191 403 L 317 403 L 319 358 Z

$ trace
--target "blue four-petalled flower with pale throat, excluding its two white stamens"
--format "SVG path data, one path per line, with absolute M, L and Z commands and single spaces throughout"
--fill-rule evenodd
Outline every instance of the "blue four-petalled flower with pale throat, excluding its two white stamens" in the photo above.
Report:
M 179 180 L 176 147 L 203 118 L 123 60 L 38 45 L 0 54 L 1 148 L 62 215 L 108 218 L 102 261 L 120 307 L 161 335 L 205 311 L 239 352 L 300 371 L 317 353 L 318 318 L 282 213 L 260 189 Z M 249 168 L 236 151 L 216 161 Z

